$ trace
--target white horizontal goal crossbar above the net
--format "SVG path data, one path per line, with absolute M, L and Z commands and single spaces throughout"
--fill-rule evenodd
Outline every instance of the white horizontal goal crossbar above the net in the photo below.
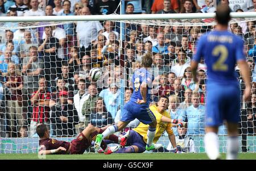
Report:
M 256 12 L 231 12 L 232 18 L 256 18 Z M 68 22 L 92 20 L 165 20 L 165 19 L 207 19 L 215 13 L 189 14 L 124 14 L 124 15 L 68 15 L 68 16 L 0 16 L 0 22 Z

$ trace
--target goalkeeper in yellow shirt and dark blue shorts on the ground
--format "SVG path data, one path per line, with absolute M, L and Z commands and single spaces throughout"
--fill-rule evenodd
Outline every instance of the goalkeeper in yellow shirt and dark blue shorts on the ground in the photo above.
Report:
M 166 111 L 168 107 L 169 99 L 168 97 L 160 97 L 158 99 L 157 106 L 152 105 L 150 106 L 150 110 L 153 112 L 156 118 L 156 133 L 153 140 L 153 144 L 155 149 L 159 149 L 162 147 L 162 144 L 155 144 L 159 137 L 163 134 L 164 130 L 167 131 L 169 139 L 171 141 L 172 146 L 176 147 L 175 135 L 172 131 L 172 127 L 183 127 L 184 123 L 176 122 L 170 118 L 170 114 Z M 125 148 L 120 148 L 115 153 L 142 153 L 146 151 L 146 142 L 147 142 L 147 130 L 148 125 L 140 123 L 137 128 L 133 130 L 127 131 L 125 137 L 127 137 L 126 146 Z M 125 141 L 120 143 L 120 145 L 125 145 Z

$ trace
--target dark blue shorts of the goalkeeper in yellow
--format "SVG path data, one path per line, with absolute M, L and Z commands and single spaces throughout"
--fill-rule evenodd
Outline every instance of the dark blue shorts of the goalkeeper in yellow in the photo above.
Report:
M 123 133 L 125 135 L 125 133 Z M 143 153 L 146 150 L 146 143 L 143 140 L 143 137 L 138 134 L 138 132 L 131 130 L 130 135 L 127 139 L 126 146 L 135 145 L 139 148 L 138 153 Z

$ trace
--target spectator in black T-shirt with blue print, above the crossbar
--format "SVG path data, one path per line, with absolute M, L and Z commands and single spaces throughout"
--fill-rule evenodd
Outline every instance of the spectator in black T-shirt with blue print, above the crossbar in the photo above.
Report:
M 115 9 L 117 7 L 115 6 L 114 1 L 109 1 L 109 0 L 98 0 L 94 4 L 94 12 L 95 14 L 98 15 L 108 15 L 108 14 L 113 14 Z

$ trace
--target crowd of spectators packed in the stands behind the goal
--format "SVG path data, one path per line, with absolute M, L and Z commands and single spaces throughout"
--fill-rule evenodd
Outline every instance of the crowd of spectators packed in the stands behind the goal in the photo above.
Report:
M 221 0 L 236 12 L 256 11 L 256 0 Z M 118 14 L 116 0 L 0 0 L 1 16 Z M 126 14 L 214 12 L 211 0 L 131 0 Z M 207 68 L 201 60 L 199 82 L 193 82 L 190 62 L 201 34 L 213 26 L 156 26 L 81 21 L 19 28 L 3 23 L 0 31 L 0 137 L 36 136 L 37 124 L 47 124 L 52 136 L 79 134 L 88 124 L 103 127 L 121 118 L 122 101 L 133 92 L 133 72 L 141 68 L 144 54 L 151 53 L 155 76 L 152 103 L 160 96 L 170 99 L 172 119 L 188 122 L 188 135 L 204 135 Z M 8 28 L 8 29 L 7 29 Z M 245 41 L 253 90 L 247 104 L 249 133 L 256 131 L 256 22 L 232 23 L 229 30 Z M 123 47 L 122 49 L 120 47 Z M 102 68 L 95 82 L 90 69 Z M 243 81 L 237 67 L 237 78 Z M 122 80 L 125 80 L 122 99 Z M 138 120 L 128 127 L 134 128 Z M 128 129 L 128 128 L 127 128 Z M 177 130 L 174 130 L 177 136 Z M 224 126 L 222 134 L 225 134 Z

